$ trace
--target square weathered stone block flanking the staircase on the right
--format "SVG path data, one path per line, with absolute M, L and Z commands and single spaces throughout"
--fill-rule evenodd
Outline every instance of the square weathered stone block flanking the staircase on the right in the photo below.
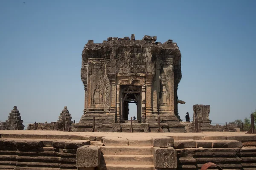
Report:
M 153 152 L 156 168 L 177 168 L 177 153 L 173 147 L 154 147 Z

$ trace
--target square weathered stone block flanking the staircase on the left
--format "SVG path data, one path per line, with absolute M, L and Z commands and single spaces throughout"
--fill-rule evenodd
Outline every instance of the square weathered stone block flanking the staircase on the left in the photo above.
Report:
M 100 147 L 79 147 L 76 152 L 76 167 L 99 167 L 100 154 Z

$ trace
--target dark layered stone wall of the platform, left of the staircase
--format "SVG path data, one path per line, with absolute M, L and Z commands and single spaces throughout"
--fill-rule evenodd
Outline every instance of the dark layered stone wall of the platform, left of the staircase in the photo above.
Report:
M 76 150 L 84 145 L 90 141 L 0 138 L 0 169 L 76 170 Z

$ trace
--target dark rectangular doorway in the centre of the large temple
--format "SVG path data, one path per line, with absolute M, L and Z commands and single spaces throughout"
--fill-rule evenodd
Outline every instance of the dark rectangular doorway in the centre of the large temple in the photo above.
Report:
M 129 103 L 130 105 L 131 103 L 136 104 L 137 116 L 135 117 L 138 122 L 141 122 L 141 86 L 133 86 L 133 85 L 120 86 L 121 122 L 125 122 L 125 120 L 131 119 L 131 113 L 129 113 L 130 111 Z

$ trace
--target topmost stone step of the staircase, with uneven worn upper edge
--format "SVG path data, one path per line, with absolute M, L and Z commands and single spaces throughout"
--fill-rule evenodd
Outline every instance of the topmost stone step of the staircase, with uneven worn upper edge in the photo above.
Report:
M 103 137 L 102 143 L 105 146 L 153 146 L 153 139 L 150 137 Z

